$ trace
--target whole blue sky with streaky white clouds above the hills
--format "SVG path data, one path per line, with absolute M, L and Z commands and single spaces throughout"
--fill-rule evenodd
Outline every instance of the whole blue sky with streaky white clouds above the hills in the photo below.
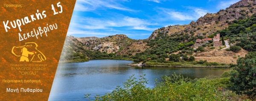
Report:
M 186 25 L 239 0 L 76 0 L 67 35 L 125 34 L 146 39 L 168 25 Z

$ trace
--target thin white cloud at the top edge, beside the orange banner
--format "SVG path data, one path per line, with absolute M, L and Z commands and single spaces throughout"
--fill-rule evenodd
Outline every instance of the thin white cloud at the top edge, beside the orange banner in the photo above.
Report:
M 124 0 L 128 1 L 128 0 Z M 116 3 L 114 0 L 76 0 L 75 11 L 94 11 L 96 9 L 117 9 L 120 11 L 131 11 L 130 8 L 127 8 L 119 3 Z

